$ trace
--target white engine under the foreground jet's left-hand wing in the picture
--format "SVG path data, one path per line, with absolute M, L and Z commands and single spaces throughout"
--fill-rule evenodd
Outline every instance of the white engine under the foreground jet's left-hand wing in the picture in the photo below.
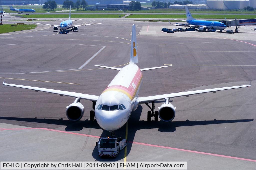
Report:
M 82 119 L 84 114 L 84 106 L 80 103 L 71 103 L 67 106 L 66 115 L 71 121 L 78 121 Z

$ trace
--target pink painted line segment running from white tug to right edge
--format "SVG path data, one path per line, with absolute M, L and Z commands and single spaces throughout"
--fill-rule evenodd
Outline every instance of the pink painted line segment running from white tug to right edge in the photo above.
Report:
M 253 159 L 238 158 L 238 157 L 234 157 L 234 156 L 219 155 L 219 154 L 214 154 L 214 153 L 191 151 L 191 150 L 186 150 L 186 149 L 179 149 L 179 148 L 171 148 L 171 147 L 166 147 L 166 146 L 151 145 L 151 144 L 140 143 L 140 142 L 129 142 L 129 143 L 134 143 L 134 144 L 138 144 L 138 145 L 145 145 L 145 146 L 152 146 L 152 147 L 158 147 L 158 148 L 165 148 L 165 149 L 173 149 L 173 150 L 178 150 L 178 151 L 192 152 L 192 153 L 200 153 L 200 154 L 204 154 L 204 155 L 219 156 L 219 157 L 223 157 L 223 158 L 238 159 L 238 160 L 243 160 L 243 161 L 256 162 L 256 160 L 253 160 Z

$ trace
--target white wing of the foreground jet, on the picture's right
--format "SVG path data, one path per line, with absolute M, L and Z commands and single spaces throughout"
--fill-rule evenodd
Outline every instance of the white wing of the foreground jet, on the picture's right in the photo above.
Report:
M 162 100 L 162 99 L 165 99 L 165 98 L 173 98 L 173 97 L 180 97 L 180 96 L 187 96 L 188 97 L 189 95 L 195 95 L 195 94 L 200 94 L 200 93 L 208 93 L 208 92 L 215 93 L 216 91 L 220 91 L 220 90 L 250 87 L 251 85 L 252 85 L 252 82 L 249 85 L 242 85 L 242 86 L 211 88 L 211 89 L 205 89 L 205 90 L 184 91 L 184 92 L 170 93 L 170 94 L 164 94 L 164 95 L 139 97 L 139 101 L 140 101 L 139 104 L 148 103 L 148 102 L 156 101 L 156 100 Z

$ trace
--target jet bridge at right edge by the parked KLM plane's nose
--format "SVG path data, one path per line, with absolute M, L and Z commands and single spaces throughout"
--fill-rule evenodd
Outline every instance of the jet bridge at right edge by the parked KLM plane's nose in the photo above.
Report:
M 256 19 L 240 19 L 240 20 L 237 20 L 237 18 L 235 18 L 235 20 L 222 20 L 220 22 L 224 23 L 227 27 L 235 26 L 236 27 L 236 29 L 235 29 L 236 32 L 238 32 L 237 28 L 240 28 L 241 25 L 256 25 Z

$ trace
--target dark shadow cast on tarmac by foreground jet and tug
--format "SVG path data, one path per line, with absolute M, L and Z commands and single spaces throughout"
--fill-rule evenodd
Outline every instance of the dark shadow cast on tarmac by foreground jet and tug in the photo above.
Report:
M 175 121 L 175 122 L 163 122 L 163 121 L 158 121 L 158 122 L 148 122 L 144 120 L 140 120 L 142 113 L 142 106 L 138 106 L 138 108 L 132 112 L 129 122 L 128 122 L 128 144 L 127 144 L 127 155 L 129 155 L 135 133 L 137 130 L 140 129 L 153 129 L 153 128 L 158 128 L 159 132 L 174 132 L 176 131 L 176 127 L 181 127 L 181 126 L 197 126 L 197 125 L 211 125 L 211 124 L 223 124 L 223 123 L 238 123 L 238 122 L 251 122 L 253 119 L 237 119 L 237 120 L 205 120 L 205 121 Z M 45 123 L 45 124 L 54 124 L 54 125 L 63 125 L 67 126 L 65 128 L 66 131 L 79 131 L 82 130 L 83 128 L 97 128 L 101 129 L 101 127 L 97 124 L 97 122 L 90 121 L 90 120 L 84 120 L 84 121 L 77 121 L 77 122 L 72 122 L 69 120 L 63 120 L 63 119 L 37 119 L 37 118 L 22 118 L 22 117 L 3 117 L 0 116 L 0 120 L 14 120 L 14 121 L 24 121 L 24 122 L 35 122 L 35 123 Z M 125 138 L 125 133 L 126 133 L 126 124 L 115 131 L 115 136 L 116 137 L 122 137 L 123 139 Z M 110 133 L 103 130 L 101 137 L 106 137 L 109 136 Z M 96 141 L 96 140 L 95 140 Z M 117 155 L 116 158 L 101 158 L 98 155 L 98 149 L 94 147 L 92 156 L 95 160 L 97 161 L 118 161 L 121 159 L 124 159 L 124 149 Z

